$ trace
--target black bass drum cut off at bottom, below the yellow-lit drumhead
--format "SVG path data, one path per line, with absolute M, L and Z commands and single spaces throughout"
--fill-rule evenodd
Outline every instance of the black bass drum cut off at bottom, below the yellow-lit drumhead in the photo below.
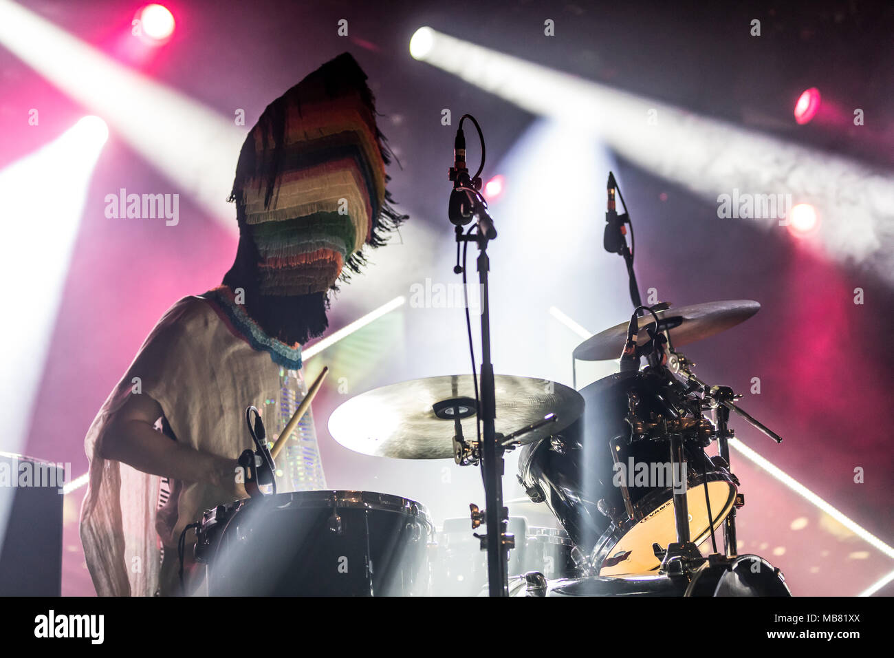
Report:
M 712 558 L 690 577 L 640 574 L 557 580 L 513 578 L 512 596 L 791 596 L 778 568 L 756 555 Z

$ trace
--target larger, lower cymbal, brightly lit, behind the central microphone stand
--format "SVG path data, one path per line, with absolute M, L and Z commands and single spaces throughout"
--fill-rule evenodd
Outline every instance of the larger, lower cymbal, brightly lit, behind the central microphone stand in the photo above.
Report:
M 568 386 L 510 375 L 493 379 L 496 432 L 508 435 L 542 421 L 547 414 L 556 416 L 555 422 L 520 435 L 520 443 L 561 432 L 584 413 L 584 398 Z M 477 440 L 470 374 L 402 381 L 351 397 L 329 417 L 329 433 L 345 448 L 373 457 L 452 458 L 456 406 L 463 438 Z

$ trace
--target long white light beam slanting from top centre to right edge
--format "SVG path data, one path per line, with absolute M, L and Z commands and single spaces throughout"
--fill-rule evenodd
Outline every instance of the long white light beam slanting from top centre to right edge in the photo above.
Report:
M 426 28 L 426 30 L 431 30 Z M 844 158 L 713 117 L 636 96 L 431 30 L 417 58 L 453 73 L 527 112 L 552 117 L 593 137 L 646 172 L 717 202 L 734 190 L 810 198 L 817 222 L 811 247 L 840 262 L 864 263 L 894 284 L 885 250 L 894 176 Z M 814 104 L 819 92 L 814 91 Z M 808 94 L 807 106 L 811 95 Z M 561 161 L 561 159 L 560 159 Z M 603 172 L 600 177 L 604 176 Z M 513 185 L 519 185 L 513 176 Z M 839 219 L 836 221 L 836 219 Z M 845 221 L 847 218 L 847 221 Z M 771 228 L 779 217 L 747 219 Z

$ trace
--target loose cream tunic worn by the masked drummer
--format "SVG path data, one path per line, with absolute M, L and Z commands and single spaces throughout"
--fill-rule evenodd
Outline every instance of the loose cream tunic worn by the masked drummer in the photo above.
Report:
M 300 372 L 289 363 L 274 363 L 257 340 L 257 348 L 252 347 L 245 324 L 233 322 L 223 308 L 199 296 L 175 303 L 90 425 L 85 439 L 89 490 L 81 507 L 80 537 L 99 595 L 176 594 L 177 540 L 183 527 L 206 509 L 232 502 L 230 494 L 206 483 L 173 482 L 169 500 L 159 509 L 161 478 L 100 456 L 112 417 L 128 396 L 154 398 L 181 443 L 235 459 L 253 448 L 247 406 L 261 410 L 272 440 L 306 393 Z M 169 439 L 159 435 L 158 440 Z M 277 461 L 278 490 L 325 489 L 309 412 L 286 445 Z M 187 534 L 188 545 L 194 536 Z

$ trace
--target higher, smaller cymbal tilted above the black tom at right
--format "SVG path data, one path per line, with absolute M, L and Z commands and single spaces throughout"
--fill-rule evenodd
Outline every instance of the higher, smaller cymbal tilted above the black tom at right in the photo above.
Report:
M 674 347 L 679 347 L 735 327 L 739 322 L 744 322 L 760 310 L 761 304 L 757 302 L 748 299 L 734 299 L 725 302 L 694 303 L 689 306 L 681 306 L 678 309 L 666 309 L 655 314 L 660 319 L 668 320 L 671 323 L 671 329 L 668 329 L 671 344 Z M 649 341 L 648 333 L 642 329 L 653 323 L 654 319 L 651 313 L 645 313 L 639 319 L 640 331 L 637 334 L 637 345 L 645 345 Z M 624 341 L 627 339 L 627 327 L 628 322 L 621 322 L 611 329 L 605 329 L 587 338 L 574 348 L 574 358 L 581 361 L 617 359 L 624 348 Z

